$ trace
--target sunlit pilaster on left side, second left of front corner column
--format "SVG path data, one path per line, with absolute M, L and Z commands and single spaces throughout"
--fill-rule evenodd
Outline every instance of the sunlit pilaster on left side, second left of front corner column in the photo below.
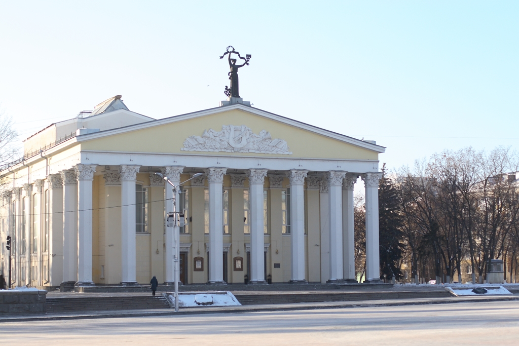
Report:
M 63 281 L 63 181 L 60 174 L 50 174 L 49 182 L 49 285 Z

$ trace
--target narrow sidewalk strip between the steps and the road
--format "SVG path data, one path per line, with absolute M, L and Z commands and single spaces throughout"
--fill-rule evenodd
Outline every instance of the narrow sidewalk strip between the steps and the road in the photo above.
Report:
M 442 297 L 442 298 L 417 298 L 417 299 L 383 299 L 383 300 L 359 300 L 359 301 L 334 301 L 313 303 L 288 303 L 288 304 L 265 304 L 265 305 L 243 305 L 238 307 L 200 307 L 180 308 L 175 313 L 173 309 L 154 310 L 117 310 L 117 311 L 87 311 L 68 313 L 49 313 L 39 315 L 17 315 L 0 316 L 2 322 L 26 322 L 26 321 L 54 321 L 54 320 L 79 320 L 79 319 L 107 319 L 119 317 L 143 317 L 143 316 L 174 316 L 207 313 L 229 313 L 229 312 L 263 312 L 263 311 L 291 311 L 291 310 L 313 310 L 313 309 L 339 309 L 359 307 L 387 307 L 408 306 L 426 304 L 448 304 L 461 302 L 487 302 L 519 300 L 519 294 L 501 296 L 465 296 L 465 297 Z

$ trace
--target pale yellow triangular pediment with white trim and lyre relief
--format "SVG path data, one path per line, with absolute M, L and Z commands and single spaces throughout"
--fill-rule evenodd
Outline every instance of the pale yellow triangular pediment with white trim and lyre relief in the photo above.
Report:
M 244 105 L 77 137 L 81 150 L 377 160 L 384 147 Z

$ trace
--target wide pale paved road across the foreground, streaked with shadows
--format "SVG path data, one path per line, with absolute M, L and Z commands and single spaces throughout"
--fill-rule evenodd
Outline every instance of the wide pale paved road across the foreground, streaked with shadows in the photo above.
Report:
M 519 301 L 0 325 L 2 344 L 517 345 Z

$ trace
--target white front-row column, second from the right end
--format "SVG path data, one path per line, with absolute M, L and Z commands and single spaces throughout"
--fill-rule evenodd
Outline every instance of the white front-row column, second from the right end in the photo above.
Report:
M 330 210 L 330 280 L 343 281 L 343 179 L 346 172 L 326 173 Z

